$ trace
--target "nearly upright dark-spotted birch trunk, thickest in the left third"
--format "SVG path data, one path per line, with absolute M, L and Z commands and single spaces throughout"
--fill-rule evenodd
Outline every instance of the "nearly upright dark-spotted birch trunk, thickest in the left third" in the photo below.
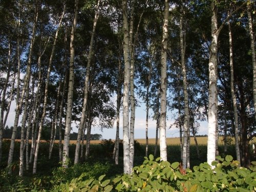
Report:
M 78 0 L 75 0 L 75 10 L 74 10 L 74 20 L 71 30 L 70 37 L 70 74 L 69 74 L 69 91 L 68 91 L 68 103 L 67 103 L 67 116 L 66 116 L 66 125 L 65 125 L 65 136 L 63 144 L 63 157 L 62 157 L 62 166 L 68 167 L 68 157 L 69 157 L 69 140 L 70 140 L 70 128 L 72 121 L 72 108 L 73 108 L 73 91 L 74 91 L 74 61 L 75 61 L 75 31 L 77 23 L 77 14 L 78 14 Z

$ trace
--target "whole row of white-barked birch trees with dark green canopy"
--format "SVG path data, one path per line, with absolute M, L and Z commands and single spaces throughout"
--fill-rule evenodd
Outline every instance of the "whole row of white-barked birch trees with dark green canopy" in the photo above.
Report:
M 168 109 L 172 126 L 180 130 L 183 168 L 189 167 L 190 134 L 196 139 L 202 120 L 208 121 L 208 163 L 215 160 L 221 133 L 234 136 L 237 159 L 249 166 L 256 127 L 253 2 L 19 0 L 2 1 L 0 9 L 0 159 L 3 127 L 16 102 L 8 165 L 21 122 L 20 176 L 25 160 L 26 169 L 33 162 L 36 173 L 47 127 L 49 159 L 58 135 L 59 160 L 68 166 L 74 121 L 79 122 L 78 163 L 85 133 L 90 136 L 96 125 L 111 128 L 116 120 L 113 159 L 118 164 L 121 109 L 124 173 L 130 174 L 136 95 L 146 103 L 146 141 L 148 118 L 157 122 L 163 160 Z

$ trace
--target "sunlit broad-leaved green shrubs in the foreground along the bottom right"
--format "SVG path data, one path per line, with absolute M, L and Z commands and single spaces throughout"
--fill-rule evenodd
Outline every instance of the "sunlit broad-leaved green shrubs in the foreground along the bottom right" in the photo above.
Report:
M 82 175 L 66 184 L 66 191 L 255 191 L 256 162 L 251 169 L 239 167 L 232 156 L 194 166 L 184 170 L 179 162 L 154 161 L 153 155 L 145 157 L 142 165 L 133 169 L 132 175 L 119 175 L 105 179 L 83 180 Z

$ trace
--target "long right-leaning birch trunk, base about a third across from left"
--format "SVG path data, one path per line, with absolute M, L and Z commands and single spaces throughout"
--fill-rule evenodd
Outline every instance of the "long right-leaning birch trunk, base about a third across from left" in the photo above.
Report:
M 88 61 L 87 61 L 87 67 L 86 67 L 86 80 L 84 82 L 84 95 L 83 95 L 83 105 L 82 105 L 82 114 L 81 114 L 81 120 L 79 124 L 78 134 L 77 134 L 77 141 L 76 141 L 76 149 L 75 149 L 75 161 L 74 163 L 77 164 L 79 161 L 79 151 L 80 151 L 80 142 L 81 142 L 81 132 L 84 125 L 84 119 L 86 116 L 86 107 L 87 107 L 87 100 L 88 100 L 88 83 L 90 78 L 90 68 L 91 68 L 91 60 L 92 60 L 92 52 L 93 52 L 93 40 L 94 40 L 94 34 L 96 30 L 96 25 L 99 18 L 99 4 L 100 0 L 98 0 L 98 4 L 96 7 L 96 12 L 94 16 L 94 22 L 93 22 L 93 30 L 91 34 L 91 41 L 90 41 L 90 47 L 89 47 L 89 54 L 88 54 Z

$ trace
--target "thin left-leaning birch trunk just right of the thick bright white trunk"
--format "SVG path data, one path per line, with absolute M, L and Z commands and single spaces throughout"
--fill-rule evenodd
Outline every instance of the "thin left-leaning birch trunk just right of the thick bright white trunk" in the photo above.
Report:
M 237 160 L 241 161 L 240 158 L 240 149 L 239 149 L 239 137 L 238 137 L 238 109 L 237 109 L 237 98 L 234 94 L 234 71 L 233 71 L 233 46 L 232 46 L 232 34 L 231 34 L 231 25 L 228 22 L 229 29 L 229 65 L 230 65 L 230 89 L 231 97 L 234 110 L 234 144 L 236 146 Z

